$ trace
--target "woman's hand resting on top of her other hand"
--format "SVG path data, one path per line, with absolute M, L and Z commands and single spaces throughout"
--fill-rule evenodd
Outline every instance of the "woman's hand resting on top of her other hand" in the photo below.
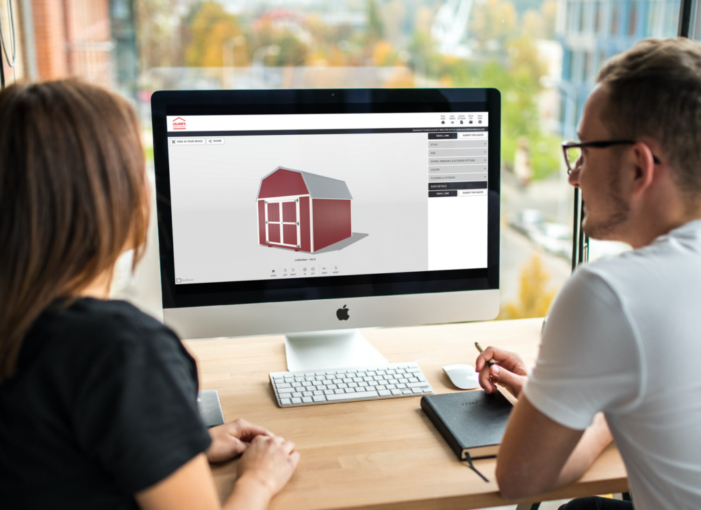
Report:
M 280 436 L 256 436 L 238 462 L 236 485 L 258 486 L 273 497 L 290 480 L 297 462 L 299 453 L 294 451 L 292 441 Z

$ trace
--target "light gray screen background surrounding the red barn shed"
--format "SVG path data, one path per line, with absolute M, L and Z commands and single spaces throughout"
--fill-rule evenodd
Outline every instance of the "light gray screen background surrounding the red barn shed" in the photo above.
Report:
M 180 283 L 268 280 L 293 269 L 302 277 L 304 268 L 313 277 L 312 267 L 315 276 L 325 276 L 322 267 L 327 275 L 428 270 L 426 133 L 224 139 L 168 146 Z M 278 166 L 346 181 L 358 240 L 315 254 L 259 245 L 257 191 Z

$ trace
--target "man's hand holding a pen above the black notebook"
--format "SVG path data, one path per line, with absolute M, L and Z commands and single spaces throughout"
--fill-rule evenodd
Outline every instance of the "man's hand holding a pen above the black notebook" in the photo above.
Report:
M 486 364 L 490 359 L 495 361 L 491 368 Z M 516 398 L 519 398 L 528 378 L 526 364 L 518 354 L 491 346 L 477 357 L 475 372 L 479 372 L 479 385 L 485 393 L 498 391 L 496 385 L 500 385 Z

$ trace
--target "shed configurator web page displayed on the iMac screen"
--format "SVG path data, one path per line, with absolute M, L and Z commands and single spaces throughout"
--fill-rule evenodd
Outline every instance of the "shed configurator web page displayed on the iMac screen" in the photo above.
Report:
M 167 121 L 176 284 L 487 267 L 486 111 Z

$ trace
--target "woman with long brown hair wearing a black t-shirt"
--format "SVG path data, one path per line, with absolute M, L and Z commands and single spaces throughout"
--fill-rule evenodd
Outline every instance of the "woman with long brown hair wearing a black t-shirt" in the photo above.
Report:
M 144 251 L 149 193 L 128 103 L 79 81 L 0 92 L 0 502 L 11 509 L 219 509 L 207 461 L 243 453 L 226 509 L 264 509 L 294 444 L 209 433 L 175 333 L 109 301 Z

